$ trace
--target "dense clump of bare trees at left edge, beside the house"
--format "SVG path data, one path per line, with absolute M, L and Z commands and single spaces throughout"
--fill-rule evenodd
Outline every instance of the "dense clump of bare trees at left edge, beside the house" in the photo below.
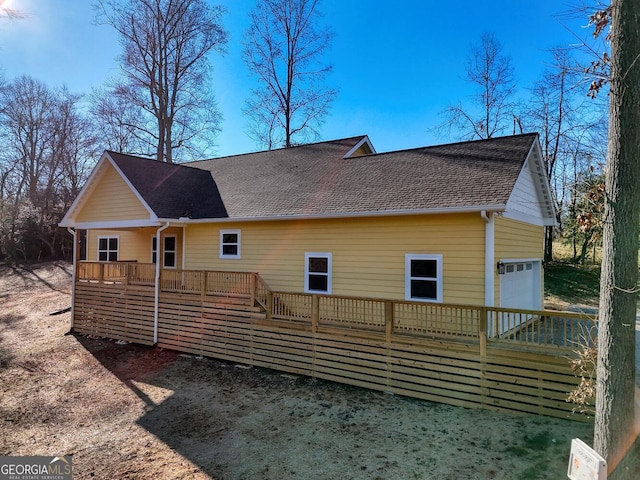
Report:
M 57 257 L 57 227 L 86 179 L 94 137 L 81 96 L 19 77 L 0 90 L 0 250 L 15 259 Z

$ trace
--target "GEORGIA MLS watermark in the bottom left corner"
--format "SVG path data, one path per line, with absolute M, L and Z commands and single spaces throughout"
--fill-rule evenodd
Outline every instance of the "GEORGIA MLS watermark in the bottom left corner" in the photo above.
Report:
M 0 480 L 71 480 L 71 456 L 0 456 Z

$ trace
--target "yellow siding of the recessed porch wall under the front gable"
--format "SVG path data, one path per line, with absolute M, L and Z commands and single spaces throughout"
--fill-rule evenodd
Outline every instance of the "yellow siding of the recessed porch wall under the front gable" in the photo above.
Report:
M 118 259 L 120 261 L 151 263 L 151 237 L 155 236 L 156 232 L 156 228 L 89 230 L 87 232 L 87 261 L 95 262 L 98 260 L 98 237 L 119 237 Z M 162 238 L 175 235 L 177 268 L 182 268 L 182 228 L 170 227 L 163 230 L 161 235 Z M 162 242 L 161 239 L 160 243 L 162 244 Z

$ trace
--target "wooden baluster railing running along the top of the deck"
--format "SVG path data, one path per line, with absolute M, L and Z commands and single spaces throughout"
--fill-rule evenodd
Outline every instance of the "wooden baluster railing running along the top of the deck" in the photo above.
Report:
M 80 262 L 80 282 L 155 284 L 155 264 Z M 593 342 L 597 319 L 583 313 L 449 305 L 335 295 L 274 292 L 252 272 L 162 269 L 167 292 L 245 297 L 267 318 L 318 328 L 384 332 L 487 344 L 575 350 Z

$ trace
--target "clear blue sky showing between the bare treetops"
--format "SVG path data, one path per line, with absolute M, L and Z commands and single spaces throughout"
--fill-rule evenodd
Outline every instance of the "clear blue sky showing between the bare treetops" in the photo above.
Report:
M 4 0 L 25 13 L 0 21 L 5 78 L 27 74 L 49 86 L 85 93 L 118 72 L 117 37 L 96 25 L 91 0 Z M 2 3 L 2 0 L 0 0 Z M 229 44 L 213 54 L 214 90 L 224 117 L 215 155 L 255 151 L 242 108 L 253 79 L 241 39 L 255 0 L 224 5 Z M 570 0 L 323 0 L 322 21 L 335 32 L 327 83 L 338 97 L 322 128 L 329 140 L 368 134 L 378 151 L 444 143 L 433 131 L 447 105 L 469 99 L 464 65 L 472 43 L 494 32 L 511 56 L 522 95 L 549 62 L 548 50 L 578 43 L 587 21 L 570 18 Z M 578 37 L 576 37 L 576 35 Z

